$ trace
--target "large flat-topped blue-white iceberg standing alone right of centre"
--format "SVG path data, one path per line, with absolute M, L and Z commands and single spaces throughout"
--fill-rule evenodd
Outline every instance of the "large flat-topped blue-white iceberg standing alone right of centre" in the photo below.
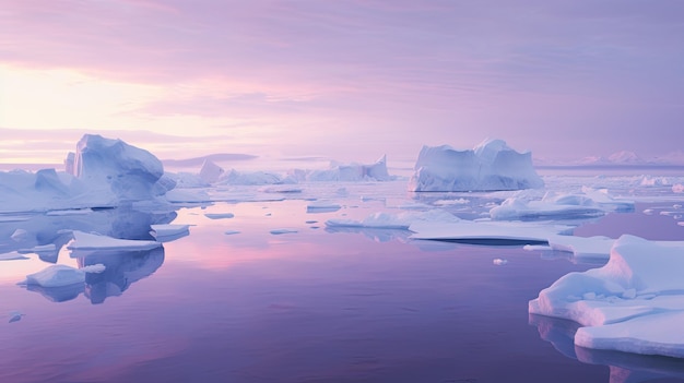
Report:
M 409 181 L 411 191 L 495 191 L 542 188 L 532 154 L 519 153 L 502 140 L 485 140 L 473 149 L 423 146 Z

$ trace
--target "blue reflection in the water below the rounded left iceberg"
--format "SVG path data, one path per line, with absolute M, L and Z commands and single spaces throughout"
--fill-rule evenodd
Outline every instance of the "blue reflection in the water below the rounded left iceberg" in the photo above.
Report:
M 79 214 L 31 215 L 22 220 L 0 222 L 0 252 L 33 253 L 46 263 L 69 263 L 68 260 L 59 260 L 59 256 L 62 248 L 73 238 L 71 230 L 95 231 L 119 239 L 153 240 L 150 226 L 168 224 L 176 216 L 175 211 L 144 211 L 130 206 Z M 16 230 L 20 230 L 21 237 L 12 236 Z M 166 238 L 165 241 L 177 238 Z M 73 300 L 83 294 L 93 304 L 102 303 L 107 297 L 120 296 L 131 284 L 158 270 L 164 263 L 164 248 L 149 251 L 74 250 L 71 258 L 76 259 L 79 267 L 103 264 L 106 270 L 101 274 L 85 274 L 85 283 L 60 287 L 28 285 L 25 288 L 54 302 Z M 21 278 L 17 276 L 17 279 Z

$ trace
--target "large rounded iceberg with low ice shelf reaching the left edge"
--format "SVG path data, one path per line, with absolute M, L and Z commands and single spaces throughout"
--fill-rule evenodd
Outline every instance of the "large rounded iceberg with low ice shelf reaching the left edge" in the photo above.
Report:
M 153 200 L 175 187 L 150 152 L 101 135 L 83 135 L 64 165 L 66 172 L 0 172 L 0 211 L 111 207 Z

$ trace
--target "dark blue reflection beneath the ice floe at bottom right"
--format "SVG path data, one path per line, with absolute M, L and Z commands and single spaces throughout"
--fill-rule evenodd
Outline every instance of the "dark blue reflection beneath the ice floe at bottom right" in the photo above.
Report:
M 575 333 L 580 327 L 578 323 L 534 314 L 530 314 L 529 323 L 536 326 L 542 339 L 551 343 L 564 356 L 583 363 L 608 366 L 611 371 L 610 383 L 684 379 L 682 359 L 577 347 Z

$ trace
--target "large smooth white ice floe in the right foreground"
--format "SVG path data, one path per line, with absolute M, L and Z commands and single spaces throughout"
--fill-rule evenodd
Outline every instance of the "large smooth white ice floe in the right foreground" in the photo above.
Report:
M 529 303 L 575 321 L 577 346 L 684 358 L 684 241 L 622 236 L 599 268 L 570 273 Z

